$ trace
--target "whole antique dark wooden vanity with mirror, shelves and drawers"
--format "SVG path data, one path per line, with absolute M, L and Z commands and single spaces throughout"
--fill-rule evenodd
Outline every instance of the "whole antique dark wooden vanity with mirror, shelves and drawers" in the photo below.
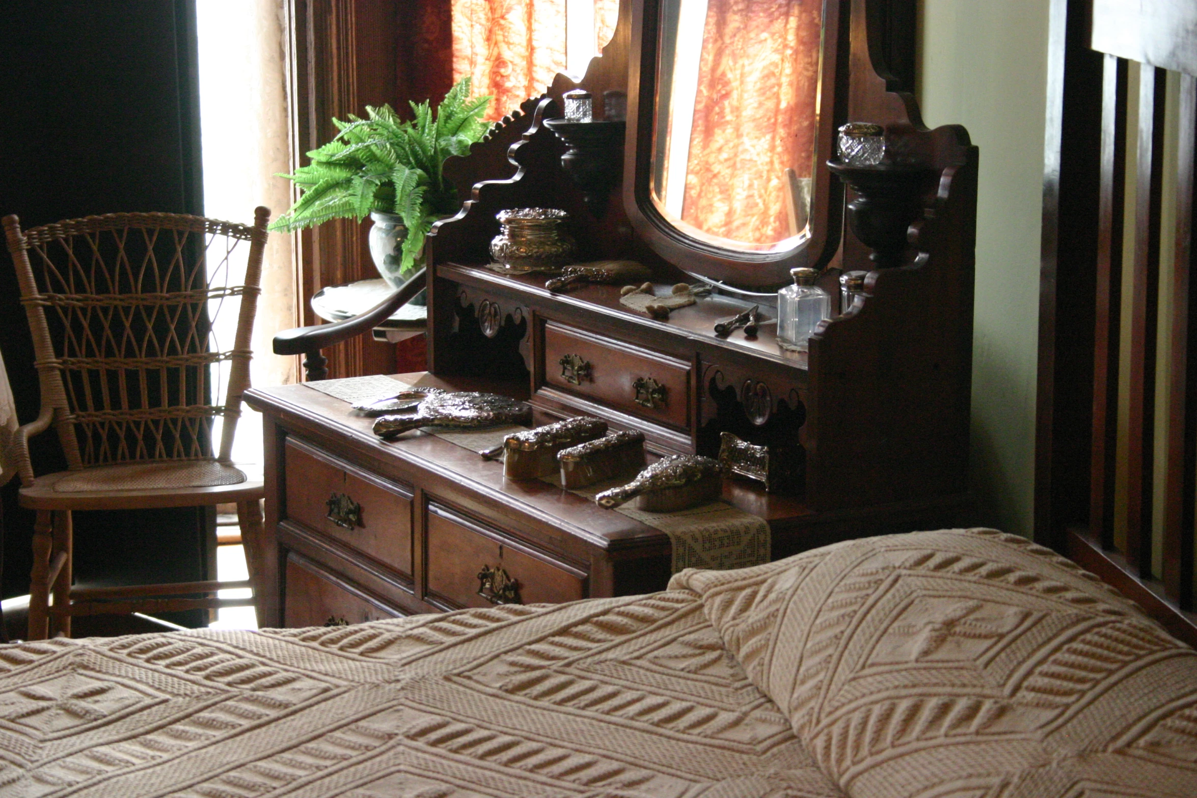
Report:
M 978 153 L 960 127 L 924 129 L 909 72 L 894 77 L 910 56 L 899 5 L 795 0 L 780 19 L 748 20 L 746 35 L 776 30 L 767 41 L 792 45 L 761 71 L 741 69 L 735 47 L 685 47 L 693 31 L 678 0 L 626 0 L 581 81 L 558 75 L 445 165 L 469 200 L 429 237 L 429 372 L 403 379 L 525 397 L 537 424 L 597 416 L 642 431 L 655 455 L 713 456 L 728 432 L 785 452 L 797 479 L 783 492 L 724 485 L 725 500 L 768 522 L 774 558 L 964 520 Z M 707 26 L 727 23 L 706 8 Z M 771 91 L 710 103 L 762 83 Z M 579 86 L 595 127 L 558 123 L 558 135 L 548 122 Z M 625 95 L 626 120 L 604 118 L 620 116 Z M 718 110 L 729 106 L 737 112 Z M 846 121 L 885 126 L 889 159 L 833 175 Z M 694 173 L 699 162 L 707 173 Z M 762 162 L 776 167 L 737 181 Z M 621 304 L 619 285 L 554 292 L 545 274 L 488 268 L 496 214 L 527 207 L 570 214 L 578 261 L 639 261 L 662 296 L 675 284 L 715 292 L 652 318 Z M 782 351 L 768 323 L 795 267 L 821 269 L 833 297 L 809 353 Z M 838 278 L 857 269 L 871 269 L 863 299 L 841 309 Z M 766 319 L 755 336 L 715 334 L 753 305 Z M 391 310 L 379 305 L 379 317 Z M 290 351 L 308 351 L 318 371 L 318 346 Z M 267 421 L 267 625 L 645 592 L 668 579 L 668 538 L 626 516 L 505 481 L 502 465 L 440 438 L 382 441 L 370 419 L 306 385 L 248 401 Z M 348 520 L 340 497 L 357 507 Z

